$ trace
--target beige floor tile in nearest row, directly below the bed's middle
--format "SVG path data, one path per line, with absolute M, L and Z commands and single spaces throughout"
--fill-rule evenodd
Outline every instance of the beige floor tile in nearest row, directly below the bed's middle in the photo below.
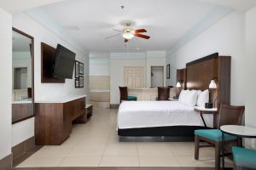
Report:
M 141 167 L 179 167 L 175 156 L 139 156 Z

